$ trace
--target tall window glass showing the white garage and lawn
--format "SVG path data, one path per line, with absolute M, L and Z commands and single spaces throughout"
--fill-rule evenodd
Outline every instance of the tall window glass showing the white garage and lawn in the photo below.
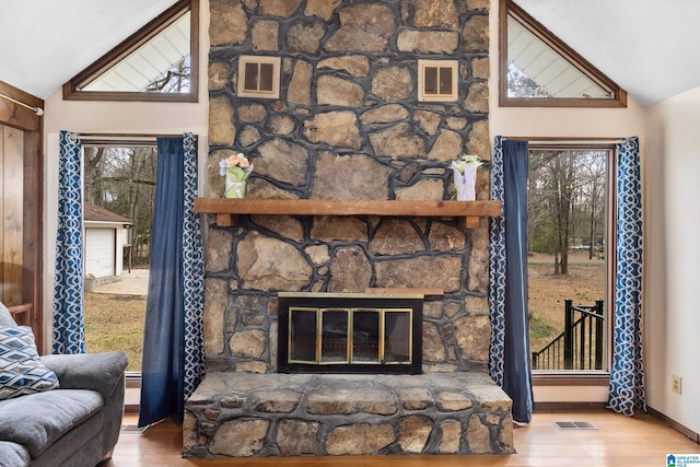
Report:
M 140 372 L 158 152 L 85 143 L 83 162 L 85 348 Z

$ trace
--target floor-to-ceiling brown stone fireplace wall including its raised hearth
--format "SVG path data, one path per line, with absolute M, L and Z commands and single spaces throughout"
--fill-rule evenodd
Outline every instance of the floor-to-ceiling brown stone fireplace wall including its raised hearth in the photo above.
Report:
M 489 1 L 210 8 L 208 196 L 223 192 L 219 161 L 244 152 L 255 166 L 246 200 L 285 200 L 289 211 L 209 217 L 207 377 L 187 402 L 185 455 L 512 452 L 510 399 L 487 374 L 486 220 L 466 229 L 435 212 L 294 208 L 454 197 L 450 161 L 490 157 Z M 279 98 L 236 94 L 244 54 L 281 58 Z M 418 59 L 445 58 L 458 61 L 458 100 L 418 102 Z M 488 179 L 487 164 L 477 199 Z M 440 291 L 422 303 L 422 361 L 409 372 L 421 374 L 278 373 L 279 294 L 373 289 Z

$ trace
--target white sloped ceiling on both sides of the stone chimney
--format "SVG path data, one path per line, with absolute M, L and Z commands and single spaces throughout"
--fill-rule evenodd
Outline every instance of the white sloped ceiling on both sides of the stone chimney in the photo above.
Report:
M 174 3 L 1 0 L 0 81 L 46 98 Z M 700 86 L 699 0 L 516 3 L 642 105 Z

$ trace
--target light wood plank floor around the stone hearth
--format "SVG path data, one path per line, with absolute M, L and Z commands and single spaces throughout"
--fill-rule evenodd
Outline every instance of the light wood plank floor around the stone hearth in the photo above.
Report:
M 559 430 L 555 421 L 588 421 L 597 430 Z M 136 417 L 127 416 L 127 424 Z M 700 445 L 648 415 L 633 418 L 609 411 L 536 412 L 515 430 L 517 454 L 499 456 L 364 456 L 261 459 L 180 457 L 182 428 L 171 420 L 143 434 L 124 431 L 112 460 L 102 467 L 253 466 L 253 467 L 661 467 L 666 454 L 700 454 Z

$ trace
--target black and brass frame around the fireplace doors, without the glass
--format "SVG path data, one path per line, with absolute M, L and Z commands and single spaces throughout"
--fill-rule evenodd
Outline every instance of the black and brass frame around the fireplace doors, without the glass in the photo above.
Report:
M 364 294 L 364 293 L 314 293 L 314 292 L 280 292 L 279 297 L 279 330 L 278 330 L 278 372 L 279 373 L 399 373 L 420 374 L 422 372 L 422 323 L 423 299 L 422 294 Z M 308 313 L 305 327 L 300 323 L 293 323 L 295 313 Z M 342 338 L 336 343 L 335 352 L 324 360 L 324 349 L 329 352 L 331 346 L 326 341 L 324 347 L 324 317 L 328 313 L 337 313 L 332 316 L 346 314 L 347 328 L 355 320 L 355 315 L 361 313 L 377 313 L 376 359 L 353 359 L 358 343 L 354 336 L 365 335 L 362 330 L 353 328 L 353 332 L 346 330 Z M 396 353 L 387 351 L 385 340 L 387 316 L 393 313 L 408 315 L 406 325 L 409 327 L 408 346 Z M 328 315 L 331 316 L 331 315 Z M 358 315 L 363 316 L 363 315 Z M 368 315 L 364 315 L 365 317 Z M 314 340 L 313 349 L 299 351 L 292 348 L 292 334 L 294 329 L 307 331 Z M 328 329 L 326 328 L 326 332 Z M 372 332 L 370 332 L 372 334 Z M 328 338 L 326 338 L 328 339 Z M 345 347 L 345 355 L 342 348 Z M 365 349 L 366 351 L 366 349 Z M 313 352 L 313 357 L 311 357 Z M 300 358 L 300 353 L 304 358 Z M 401 357 L 397 357 L 401 355 Z

